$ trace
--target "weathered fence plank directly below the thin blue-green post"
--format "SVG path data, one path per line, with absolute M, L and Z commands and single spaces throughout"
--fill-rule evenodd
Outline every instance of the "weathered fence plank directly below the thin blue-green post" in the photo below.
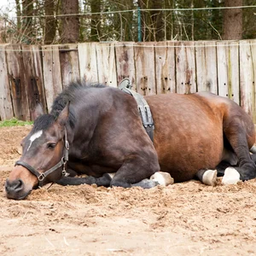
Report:
M 142 95 L 156 94 L 154 44 L 151 42 L 134 45 L 137 92 Z

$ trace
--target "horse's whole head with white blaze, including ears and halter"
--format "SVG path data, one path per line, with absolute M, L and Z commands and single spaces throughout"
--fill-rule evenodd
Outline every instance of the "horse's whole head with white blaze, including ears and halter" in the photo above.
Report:
M 21 200 L 46 183 L 65 175 L 68 158 L 66 124 L 69 103 L 55 118 L 44 114 L 40 105 L 34 111 L 32 131 L 22 140 L 22 155 L 5 182 L 9 199 Z

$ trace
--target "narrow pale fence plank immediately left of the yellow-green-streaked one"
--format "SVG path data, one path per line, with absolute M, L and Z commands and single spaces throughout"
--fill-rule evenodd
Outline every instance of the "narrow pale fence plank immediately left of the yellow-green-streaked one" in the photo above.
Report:
M 228 44 L 224 41 L 217 42 L 217 59 L 218 59 L 218 95 L 229 97 L 229 77 L 228 77 Z

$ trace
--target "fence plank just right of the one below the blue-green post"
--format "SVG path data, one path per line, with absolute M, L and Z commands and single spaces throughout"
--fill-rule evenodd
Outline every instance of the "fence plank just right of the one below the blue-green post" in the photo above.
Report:
M 176 92 L 175 49 L 173 42 L 158 42 L 155 50 L 156 93 Z

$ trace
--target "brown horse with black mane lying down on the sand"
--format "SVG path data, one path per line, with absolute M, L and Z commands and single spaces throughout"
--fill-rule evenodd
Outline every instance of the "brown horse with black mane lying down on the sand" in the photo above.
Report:
M 23 199 L 50 182 L 150 188 L 158 182 L 148 177 L 159 171 L 169 172 L 175 182 L 197 177 L 211 185 L 214 169 L 224 162 L 236 166 L 225 171 L 226 183 L 256 177 L 249 152 L 253 121 L 235 102 L 211 93 L 145 99 L 154 143 L 132 96 L 101 84 L 70 84 L 49 114 L 35 110 L 32 131 L 21 143 L 23 154 L 5 183 L 7 197 Z M 88 177 L 74 177 L 82 173 Z

